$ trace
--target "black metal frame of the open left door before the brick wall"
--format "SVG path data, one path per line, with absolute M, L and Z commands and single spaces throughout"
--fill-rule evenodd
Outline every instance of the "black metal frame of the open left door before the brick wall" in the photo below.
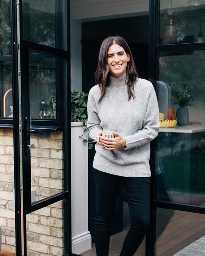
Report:
M 58 1 L 57 1 L 58 2 Z M 57 3 L 56 2 L 56 3 Z M 59 1 L 60 2 L 60 1 Z M 58 2 L 58 3 L 59 3 Z M 64 10 L 67 16 L 67 51 L 52 47 L 27 42 L 22 38 L 22 0 L 11 1 L 12 21 L 12 82 L 13 82 L 13 140 L 14 140 L 14 187 L 15 187 L 15 227 L 16 227 L 16 255 L 26 256 L 26 214 L 48 206 L 64 199 L 64 256 L 72 256 L 71 244 L 71 146 L 70 146 L 70 1 L 64 1 Z M 56 6 L 59 6 L 58 4 Z M 61 24 L 62 25 L 62 24 Z M 19 29 L 20 28 L 20 29 Z M 20 32 L 19 32 L 20 31 Z M 19 32 L 19 34 L 18 34 Z M 30 168 L 30 159 L 24 155 L 26 123 L 23 121 L 29 117 L 28 89 L 21 83 L 29 84 L 29 49 L 36 49 L 45 53 L 59 56 L 67 60 L 67 68 L 64 70 L 66 83 L 64 83 L 64 115 L 61 128 L 64 132 L 64 191 L 31 204 L 31 184 L 28 182 L 30 173 L 25 172 L 25 166 Z M 19 50 L 21 55 L 18 56 Z M 20 58 L 18 58 L 20 57 Z M 20 61 L 21 60 L 21 67 Z M 22 71 L 22 73 L 21 73 Z M 27 86 L 29 87 L 29 86 Z M 19 101 L 19 93 L 21 93 Z M 27 95 L 27 97 L 25 97 Z M 26 110 L 28 108 L 28 110 Z M 22 115 L 22 113 L 24 116 Z M 25 115 L 26 113 L 26 115 Z M 20 119 L 19 119 L 20 115 Z M 47 122 L 52 126 L 52 122 Z M 45 126 L 45 123 L 43 124 Z M 39 128 L 39 126 L 38 126 Z M 56 130 L 50 127 L 51 130 Z M 45 127 L 41 127 L 45 129 Z M 48 127 L 47 127 L 48 129 Z M 28 131 L 27 131 L 28 132 Z M 26 145 L 27 146 L 27 145 Z M 29 173 L 29 174 L 28 174 Z

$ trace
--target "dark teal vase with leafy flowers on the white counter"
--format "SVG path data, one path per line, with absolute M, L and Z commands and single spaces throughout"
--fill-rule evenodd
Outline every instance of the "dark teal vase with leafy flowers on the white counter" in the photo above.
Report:
M 195 98 L 190 95 L 188 92 L 187 86 L 178 86 L 176 93 L 176 102 L 174 104 L 178 104 L 179 107 L 176 110 L 176 117 L 178 119 L 179 126 L 186 126 L 189 123 L 189 110 L 187 106 L 192 106 L 190 103 L 194 101 Z

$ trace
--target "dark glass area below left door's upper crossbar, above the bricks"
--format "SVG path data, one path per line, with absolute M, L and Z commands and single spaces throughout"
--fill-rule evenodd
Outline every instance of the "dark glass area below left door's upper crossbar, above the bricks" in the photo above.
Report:
M 56 118 L 56 58 L 33 50 L 29 54 L 31 118 Z

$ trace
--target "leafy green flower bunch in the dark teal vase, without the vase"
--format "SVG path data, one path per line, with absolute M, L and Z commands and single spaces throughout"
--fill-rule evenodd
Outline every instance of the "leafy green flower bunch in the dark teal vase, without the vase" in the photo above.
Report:
M 174 104 L 178 104 L 179 106 L 192 106 L 190 101 L 194 101 L 195 98 L 190 95 L 185 85 L 184 87 L 177 87 L 176 100 Z

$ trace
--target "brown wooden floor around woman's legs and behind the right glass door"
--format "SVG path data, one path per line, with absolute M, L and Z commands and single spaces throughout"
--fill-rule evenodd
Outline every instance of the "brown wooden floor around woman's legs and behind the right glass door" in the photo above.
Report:
M 204 199 L 204 198 L 203 198 Z M 110 238 L 109 256 L 119 256 L 129 229 L 128 209 L 124 203 L 125 229 Z M 173 256 L 190 243 L 205 236 L 205 214 L 157 208 L 156 256 Z M 96 256 L 95 244 L 81 256 Z M 145 239 L 135 256 L 145 256 Z

